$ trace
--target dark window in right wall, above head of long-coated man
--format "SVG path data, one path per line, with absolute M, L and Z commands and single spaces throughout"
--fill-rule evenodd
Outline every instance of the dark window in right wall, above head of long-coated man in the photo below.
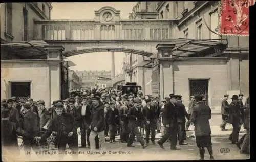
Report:
M 208 104 L 209 79 L 189 79 L 189 98 L 190 96 L 201 95 Z

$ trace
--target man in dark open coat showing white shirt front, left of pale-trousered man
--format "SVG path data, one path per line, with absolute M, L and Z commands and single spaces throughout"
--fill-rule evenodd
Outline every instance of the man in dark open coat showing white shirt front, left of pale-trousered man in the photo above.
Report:
M 86 137 L 87 137 L 87 144 L 90 147 L 90 129 L 89 126 L 91 124 L 91 107 L 87 103 L 87 98 L 84 97 L 82 100 L 82 106 L 78 109 L 78 122 L 81 126 L 81 147 L 86 147 Z

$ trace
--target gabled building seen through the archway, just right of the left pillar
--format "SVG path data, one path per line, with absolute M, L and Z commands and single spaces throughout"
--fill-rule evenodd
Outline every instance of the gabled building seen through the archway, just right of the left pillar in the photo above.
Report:
M 69 69 L 69 90 L 77 90 L 82 86 L 82 78 Z

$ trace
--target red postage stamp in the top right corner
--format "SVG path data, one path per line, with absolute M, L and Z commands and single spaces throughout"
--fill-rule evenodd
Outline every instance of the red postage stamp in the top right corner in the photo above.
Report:
M 249 6 L 254 0 L 221 0 L 220 34 L 249 35 Z

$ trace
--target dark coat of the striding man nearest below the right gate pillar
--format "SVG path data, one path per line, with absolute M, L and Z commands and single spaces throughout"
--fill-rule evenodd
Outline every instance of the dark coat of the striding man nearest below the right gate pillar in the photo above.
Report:
M 177 117 L 178 106 L 171 102 L 164 104 L 162 113 L 163 125 L 169 124 L 170 127 L 178 127 Z

